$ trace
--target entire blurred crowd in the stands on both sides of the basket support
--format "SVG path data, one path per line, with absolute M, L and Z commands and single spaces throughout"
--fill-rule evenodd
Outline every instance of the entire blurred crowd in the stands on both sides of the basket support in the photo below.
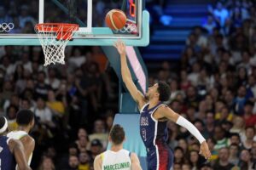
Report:
M 14 31 L 33 31 L 38 7 L 32 7 L 37 3 L 23 1 L 29 6 L 19 8 L 18 17 L 20 0 L 1 0 L 0 23 L 13 20 L 20 26 Z M 174 170 L 256 169 L 252 2 L 219 0 L 209 7 L 207 21 L 189 35 L 178 71 L 171 70 L 169 61 L 157 74 L 149 71 L 150 85 L 170 83 L 172 95 L 166 104 L 195 124 L 212 151 L 206 162 L 196 139 L 168 122 Z M 34 10 L 26 14 L 23 8 Z M 106 149 L 118 111 L 118 81 L 101 49 L 67 47 L 66 65 L 44 67 L 41 47 L 5 46 L 0 47 L 0 60 L 0 112 L 8 117 L 9 130 L 17 127 L 15 113 L 20 109 L 31 109 L 36 116 L 33 169 L 93 169 L 95 156 Z

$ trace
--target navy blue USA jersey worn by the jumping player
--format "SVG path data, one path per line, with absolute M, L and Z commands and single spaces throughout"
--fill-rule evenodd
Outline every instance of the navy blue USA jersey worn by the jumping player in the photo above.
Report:
M 161 103 L 155 105 L 153 108 L 148 110 L 148 105 L 143 106 L 140 116 L 140 133 L 143 142 L 147 149 L 153 148 L 156 141 L 160 143 L 166 143 L 168 138 L 167 121 L 159 122 L 153 117 L 154 111 L 156 111 Z

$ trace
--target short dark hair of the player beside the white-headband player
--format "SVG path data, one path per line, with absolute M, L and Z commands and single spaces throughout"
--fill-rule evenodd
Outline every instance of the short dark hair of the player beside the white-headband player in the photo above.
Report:
M 28 125 L 34 119 L 34 113 L 30 110 L 20 110 L 17 113 L 16 122 L 18 125 Z

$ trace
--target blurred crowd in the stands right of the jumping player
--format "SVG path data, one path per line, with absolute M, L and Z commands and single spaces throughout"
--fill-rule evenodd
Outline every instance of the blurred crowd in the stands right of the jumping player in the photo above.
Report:
M 255 3 L 211 7 L 187 38 L 179 71 L 165 62 L 157 75 L 170 82 L 172 109 L 194 122 L 212 151 L 204 162 L 195 138 L 170 122 L 174 169 L 256 169 Z

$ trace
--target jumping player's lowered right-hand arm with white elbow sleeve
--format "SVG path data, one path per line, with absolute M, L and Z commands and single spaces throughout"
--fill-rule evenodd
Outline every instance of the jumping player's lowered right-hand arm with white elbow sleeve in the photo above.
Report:
M 208 148 L 206 139 L 204 139 L 198 129 L 191 122 L 189 122 L 183 116 L 178 115 L 175 111 L 172 111 L 172 109 L 169 107 L 160 107 L 160 113 L 162 116 L 166 117 L 172 122 L 176 122 L 178 125 L 188 129 L 189 133 L 192 133 L 201 144 L 200 154 L 203 155 L 206 159 L 211 157 L 211 152 Z

